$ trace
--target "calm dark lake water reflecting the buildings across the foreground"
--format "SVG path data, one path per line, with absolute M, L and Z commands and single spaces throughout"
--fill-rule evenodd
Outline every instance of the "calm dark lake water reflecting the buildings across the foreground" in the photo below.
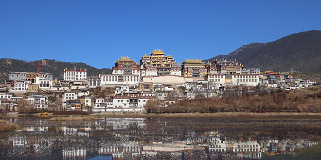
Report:
M 1 160 L 321 160 L 319 117 L 1 118 Z

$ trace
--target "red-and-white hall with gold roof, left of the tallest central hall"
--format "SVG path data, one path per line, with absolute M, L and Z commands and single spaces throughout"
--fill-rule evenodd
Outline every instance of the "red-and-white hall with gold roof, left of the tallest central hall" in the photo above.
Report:
M 113 67 L 112 74 L 100 74 L 101 85 L 134 85 L 140 81 L 140 68 L 135 60 L 121 57 Z

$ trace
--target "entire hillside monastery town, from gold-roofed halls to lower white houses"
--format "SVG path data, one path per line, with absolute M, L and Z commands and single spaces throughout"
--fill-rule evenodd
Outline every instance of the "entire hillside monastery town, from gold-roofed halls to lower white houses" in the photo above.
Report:
M 297 80 L 290 73 L 246 69 L 236 60 L 216 59 L 209 63 L 192 58 L 178 63 L 174 56 L 161 49 L 142 55 L 139 64 L 129 56 L 121 56 L 110 74 L 88 76 L 86 69 L 66 68 L 63 79 L 54 80 L 52 73 L 11 72 L 6 83 L 9 89 L 0 93 L 0 109 L 15 110 L 20 102 L 26 101 L 36 109 L 90 112 L 143 111 L 151 99 L 158 99 L 162 107 L 167 107 L 177 100 L 200 95 L 222 98 L 226 89 L 247 87 L 251 90 L 258 84 L 284 89 L 311 85 L 309 80 Z M 112 88 L 114 93 L 108 93 L 107 97 L 106 94 L 92 96 L 89 89 L 96 87 Z M 50 101 L 48 96 L 38 95 L 45 91 L 61 93 L 61 97 Z M 10 93 L 35 95 L 19 97 Z

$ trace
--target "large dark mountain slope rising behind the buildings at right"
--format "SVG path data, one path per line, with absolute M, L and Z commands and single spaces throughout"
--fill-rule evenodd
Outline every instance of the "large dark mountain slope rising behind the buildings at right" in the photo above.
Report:
M 321 73 L 321 31 L 313 30 L 285 36 L 266 44 L 251 43 L 228 55 L 208 60 L 236 59 L 246 68 L 262 71 L 299 71 Z

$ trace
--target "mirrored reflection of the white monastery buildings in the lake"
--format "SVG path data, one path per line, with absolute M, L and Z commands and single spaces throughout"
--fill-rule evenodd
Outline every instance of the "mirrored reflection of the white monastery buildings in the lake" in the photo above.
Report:
M 62 152 L 55 153 L 59 153 L 59 156 L 63 159 L 88 159 L 90 155 L 96 154 L 95 156 L 99 155 L 107 160 L 131 160 L 142 159 L 142 157 L 145 159 L 162 159 L 163 157 L 183 159 L 183 157 L 188 156 L 206 156 L 205 148 L 208 148 L 209 154 L 207 156 L 228 155 L 238 159 L 262 159 L 264 155 L 293 154 L 297 148 L 317 144 L 308 141 L 277 139 L 266 139 L 260 142 L 254 140 L 254 138 L 235 140 L 225 137 L 218 131 L 196 133 L 192 130 L 187 133 L 186 140 L 172 141 L 171 143 L 129 141 L 131 136 L 143 136 L 142 133 L 146 128 L 144 120 L 145 118 L 103 118 L 93 123 L 59 127 L 48 127 L 46 126 L 47 122 L 36 120 L 35 124 L 41 125 L 41 127 L 26 127 L 22 128 L 21 131 L 31 134 L 46 132 L 41 134 L 43 136 L 21 136 L 18 133 L 17 135 L 10 135 L 8 143 L 4 145 L 10 145 L 10 147 L 7 147 L 9 148 L 8 158 L 38 156 L 37 158 L 44 159 L 52 155 L 53 148 L 56 147 L 54 144 L 57 144 L 59 139 L 58 144 L 64 145 L 61 146 Z M 92 141 L 96 137 L 91 137 L 91 133 L 93 131 L 101 132 L 102 130 L 112 133 L 110 135 L 115 137 L 115 139 L 112 139 L 119 141 L 110 142 L 109 139 Z M 57 134 L 55 138 L 46 136 L 52 131 Z M 168 134 L 164 128 L 156 128 L 157 131 L 161 131 L 164 140 L 173 138 L 173 135 Z M 78 142 L 79 139 L 84 141 Z M 73 144 L 70 144 L 70 142 L 73 142 Z M 90 142 L 90 144 L 83 142 Z M 194 150 L 197 150 L 197 152 L 194 152 Z

